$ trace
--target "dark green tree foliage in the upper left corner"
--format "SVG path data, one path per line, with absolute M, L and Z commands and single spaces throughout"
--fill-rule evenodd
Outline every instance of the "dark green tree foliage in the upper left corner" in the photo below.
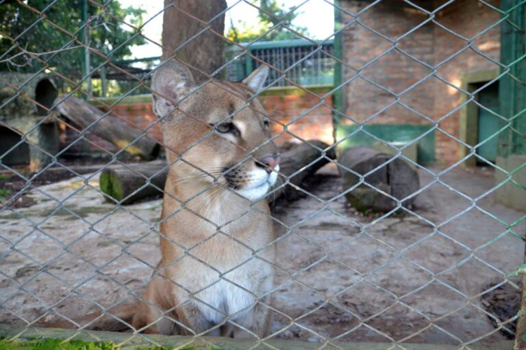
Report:
M 0 59 L 1 71 L 36 72 L 45 67 L 23 53 L 26 50 L 48 61 L 49 68 L 78 81 L 82 77 L 85 51 L 81 42 L 88 43 L 95 51 L 110 55 L 111 60 L 129 55 L 132 45 L 145 44 L 144 38 L 134 36 L 132 29 L 116 19 L 138 26 L 142 24 L 144 10 L 121 8 L 118 1 L 97 0 L 101 5 L 105 3 L 103 7 L 88 1 L 89 24 L 83 29 L 82 0 L 56 1 L 51 6 L 49 0 L 25 2 L 28 6 L 14 1 L 0 4 L 0 53 L 4 56 Z M 75 38 L 80 42 L 75 41 Z M 57 50 L 60 51 L 49 53 Z M 5 62 L 15 55 L 16 58 Z M 90 59 L 92 68 L 105 60 L 94 51 L 90 53 Z

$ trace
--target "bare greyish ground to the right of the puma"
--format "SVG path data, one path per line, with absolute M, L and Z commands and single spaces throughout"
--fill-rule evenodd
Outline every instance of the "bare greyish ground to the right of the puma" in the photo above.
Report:
M 334 169 L 324 170 L 312 194 L 327 201 L 341 184 Z M 433 179 L 420 175 L 421 186 Z M 469 197 L 493 186 L 492 174 L 480 171 L 451 171 L 440 179 Z M 471 201 L 434 184 L 418 197 L 415 214 L 403 216 L 363 217 L 344 198 L 324 210 L 314 197 L 279 208 L 277 218 L 296 224 L 277 246 L 279 266 L 289 273 L 303 268 L 294 282 L 286 283 L 283 273 L 278 278 L 286 285 L 275 293 L 276 308 L 298 324 L 279 336 L 451 344 L 485 335 L 484 341 L 503 339 L 480 295 L 521 264 L 523 242 L 506 233 L 505 223 L 524 213 L 494 205 L 492 196 L 476 204 L 480 209 L 469 209 Z M 512 230 L 524 234 L 524 220 Z

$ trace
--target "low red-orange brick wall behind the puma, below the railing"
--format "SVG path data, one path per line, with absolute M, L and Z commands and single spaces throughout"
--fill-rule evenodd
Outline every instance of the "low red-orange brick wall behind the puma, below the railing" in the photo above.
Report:
M 273 134 L 280 134 L 275 140 L 277 145 L 282 145 L 284 142 L 301 142 L 298 138 L 322 140 L 329 145 L 334 142 L 331 110 L 328 108 L 332 106 L 332 98 L 326 97 L 323 100 L 328 107 L 325 105 L 316 107 L 321 103 L 321 97 L 329 90 L 330 88 L 312 88 L 308 91 L 299 88 L 278 88 L 262 94 L 262 101 L 271 119 L 275 121 L 271 123 Z M 123 99 L 122 103 L 112 108 L 112 114 L 128 125 L 144 130 L 157 121 L 151 110 L 150 101 L 151 98 L 144 95 Z M 108 100 L 106 103 L 110 104 L 112 101 Z M 101 109 L 107 110 L 106 108 Z M 116 146 L 93 134 L 86 134 L 89 142 L 77 140 L 79 134 L 64 123 L 60 125 L 60 130 L 62 149 L 68 147 L 66 153 L 89 154 L 118 151 Z M 147 134 L 162 142 L 160 124 L 155 123 Z M 77 142 L 74 142 L 75 140 Z

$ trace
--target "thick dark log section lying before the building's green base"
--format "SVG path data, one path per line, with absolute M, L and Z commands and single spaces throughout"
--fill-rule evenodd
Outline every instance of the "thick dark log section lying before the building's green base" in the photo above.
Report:
M 380 191 L 402 201 L 420 188 L 418 173 L 407 162 L 397 158 L 384 164 L 392 157 L 394 156 L 368 147 L 353 147 L 340 154 L 338 163 L 354 172 L 338 166 L 344 191 L 360 182 L 359 175 L 366 175 L 379 167 L 364 177 L 364 182 L 376 189 L 362 183 L 345 195 L 347 201 L 360 212 L 388 212 L 397 207 L 397 201 Z M 402 205 L 411 208 L 415 198 L 416 196 L 405 199 Z

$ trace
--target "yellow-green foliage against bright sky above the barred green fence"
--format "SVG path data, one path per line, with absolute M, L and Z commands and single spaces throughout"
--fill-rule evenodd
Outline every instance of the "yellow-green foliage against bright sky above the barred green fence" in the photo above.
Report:
M 230 27 L 227 30 L 227 38 L 235 42 L 251 42 L 258 39 L 268 29 L 277 26 L 268 34 L 265 34 L 262 40 L 290 40 L 299 39 L 297 34 L 290 32 L 287 26 L 294 29 L 305 36 L 308 36 L 308 31 L 304 27 L 293 25 L 292 21 L 298 16 L 300 12 L 293 11 L 295 6 L 286 8 L 283 3 L 279 5 L 277 0 L 253 0 L 255 5 L 261 9 L 258 11 L 258 23 L 251 23 L 240 21 L 235 24 L 230 21 Z M 290 12 L 290 13 L 289 13 Z

